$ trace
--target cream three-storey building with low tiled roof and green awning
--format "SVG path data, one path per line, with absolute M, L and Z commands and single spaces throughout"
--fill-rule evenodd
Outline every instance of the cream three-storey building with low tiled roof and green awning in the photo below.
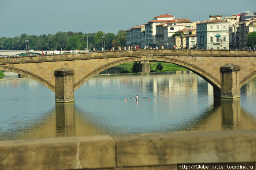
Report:
M 197 48 L 229 49 L 229 22 L 210 20 L 196 24 Z

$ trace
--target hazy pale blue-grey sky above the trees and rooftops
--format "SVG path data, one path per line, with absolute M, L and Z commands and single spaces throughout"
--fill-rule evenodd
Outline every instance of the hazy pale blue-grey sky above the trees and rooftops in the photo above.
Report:
M 59 31 L 117 34 L 169 13 L 192 22 L 256 12 L 256 0 L 0 0 L 0 37 Z

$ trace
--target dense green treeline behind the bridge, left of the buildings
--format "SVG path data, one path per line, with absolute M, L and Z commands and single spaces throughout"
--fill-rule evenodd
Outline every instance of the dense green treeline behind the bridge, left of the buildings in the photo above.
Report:
M 0 50 L 26 50 L 25 39 L 29 40 L 30 49 L 33 50 L 84 50 L 87 48 L 87 38 L 89 49 L 101 49 L 102 35 L 105 35 L 105 49 L 107 50 L 112 48 L 112 46 L 117 48 L 118 46 L 123 47 L 126 44 L 126 33 L 124 30 L 118 31 L 117 35 L 113 33 L 105 34 L 103 31 L 89 34 L 83 34 L 81 31 L 79 33 L 59 31 L 54 35 L 44 34 L 37 36 L 21 34 L 19 37 L 14 38 L 1 37 Z

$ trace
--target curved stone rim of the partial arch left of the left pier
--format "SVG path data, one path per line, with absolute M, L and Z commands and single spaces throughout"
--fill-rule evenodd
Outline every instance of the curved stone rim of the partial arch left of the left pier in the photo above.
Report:
M 5 66 L 0 66 L 0 70 L 11 71 L 11 72 L 23 74 L 31 79 L 34 79 L 34 80 L 44 84 L 46 87 L 50 88 L 50 90 L 55 92 L 55 87 L 50 82 L 46 81 L 45 79 L 42 79 L 41 77 L 39 77 L 37 75 L 34 75 L 33 73 L 26 71 L 26 70 L 13 68 L 13 67 L 5 67 Z

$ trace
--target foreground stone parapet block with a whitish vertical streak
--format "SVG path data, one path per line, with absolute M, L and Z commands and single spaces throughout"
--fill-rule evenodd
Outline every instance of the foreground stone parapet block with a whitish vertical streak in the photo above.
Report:
M 0 141 L 1 170 L 97 169 L 115 166 L 110 136 Z

